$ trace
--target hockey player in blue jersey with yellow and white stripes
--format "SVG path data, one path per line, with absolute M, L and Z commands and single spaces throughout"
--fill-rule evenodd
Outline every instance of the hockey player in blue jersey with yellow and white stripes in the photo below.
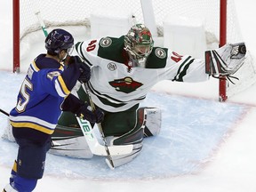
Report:
M 10 113 L 19 151 L 4 192 L 29 192 L 36 188 L 37 180 L 44 174 L 46 152 L 51 148 L 51 135 L 61 110 L 92 123 L 103 118 L 100 109 L 92 113 L 88 105 L 70 94 L 77 80 L 86 83 L 91 76 L 90 68 L 78 56 L 71 57 L 67 68 L 60 64 L 73 47 L 74 38 L 68 31 L 54 29 L 45 39 L 47 54 L 38 55 L 28 68 L 17 105 Z

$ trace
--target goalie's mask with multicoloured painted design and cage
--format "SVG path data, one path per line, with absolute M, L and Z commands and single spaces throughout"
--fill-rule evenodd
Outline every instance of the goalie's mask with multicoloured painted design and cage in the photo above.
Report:
M 124 36 L 124 50 L 130 56 L 131 67 L 145 68 L 148 55 L 152 52 L 154 41 L 148 28 L 136 24 Z

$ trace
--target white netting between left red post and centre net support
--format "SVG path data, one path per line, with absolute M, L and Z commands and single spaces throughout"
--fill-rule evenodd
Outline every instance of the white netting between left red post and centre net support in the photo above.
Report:
M 20 38 L 27 36 L 29 32 L 40 29 L 40 24 L 35 12 L 40 11 L 46 27 L 50 26 L 78 26 L 90 27 L 91 13 L 102 8 L 105 10 L 119 9 L 124 12 L 134 12 L 140 21 L 142 13 L 140 0 L 76 0 L 52 1 L 52 0 L 20 0 Z

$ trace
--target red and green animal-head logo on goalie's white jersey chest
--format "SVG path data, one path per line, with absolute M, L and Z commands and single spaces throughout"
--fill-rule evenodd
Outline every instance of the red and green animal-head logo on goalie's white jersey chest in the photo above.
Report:
M 141 85 L 140 82 L 133 81 L 130 76 L 126 76 L 122 79 L 115 79 L 109 84 L 116 89 L 117 92 L 130 93 L 136 91 Z

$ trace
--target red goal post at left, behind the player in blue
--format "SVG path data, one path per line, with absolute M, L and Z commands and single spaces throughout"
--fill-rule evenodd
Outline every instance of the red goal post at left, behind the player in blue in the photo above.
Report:
M 20 0 L 12 0 L 13 73 L 20 73 Z

